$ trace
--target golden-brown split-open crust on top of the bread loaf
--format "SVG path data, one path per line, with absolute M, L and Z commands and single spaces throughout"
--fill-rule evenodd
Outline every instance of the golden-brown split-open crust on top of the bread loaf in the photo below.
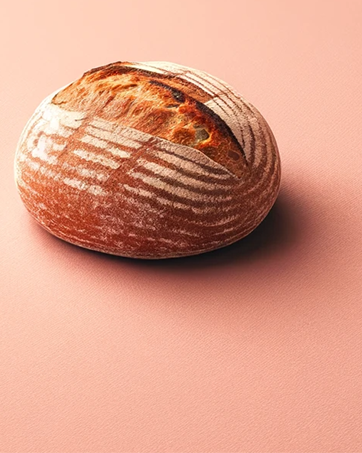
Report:
M 192 147 L 240 178 L 248 169 L 245 153 L 229 126 L 205 105 L 210 99 L 175 75 L 118 62 L 86 72 L 52 103 Z

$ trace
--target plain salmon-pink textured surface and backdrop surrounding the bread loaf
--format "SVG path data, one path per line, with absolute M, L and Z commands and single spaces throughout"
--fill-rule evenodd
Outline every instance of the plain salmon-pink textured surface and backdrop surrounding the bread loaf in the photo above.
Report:
M 362 452 L 362 2 L 0 9 L 0 451 Z M 266 117 L 282 189 L 248 238 L 145 262 L 32 221 L 23 126 L 117 60 L 203 69 Z

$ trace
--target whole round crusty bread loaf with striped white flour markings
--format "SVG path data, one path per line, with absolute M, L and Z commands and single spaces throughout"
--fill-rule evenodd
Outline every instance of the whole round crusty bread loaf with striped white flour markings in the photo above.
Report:
M 117 62 L 48 96 L 26 125 L 15 178 L 65 241 L 134 258 L 231 244 L 278 195 L 262 115 L 225 82 L 174 63 Z

